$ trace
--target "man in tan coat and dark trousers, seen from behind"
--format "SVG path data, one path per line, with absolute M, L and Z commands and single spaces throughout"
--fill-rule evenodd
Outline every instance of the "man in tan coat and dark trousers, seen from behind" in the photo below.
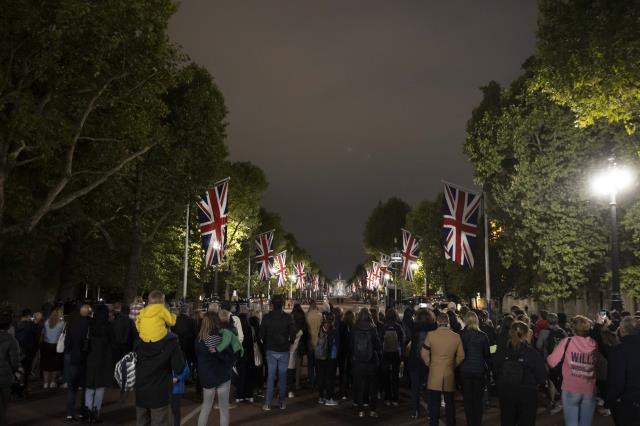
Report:
M 440 401 L 444 396 L 447 426 L 456 424 L 453 393 L 456 390 L 455 369 L 464 360 L 464 349 L 460 336 L 449 328 L 449 315 L 439 313 L 438 328 L 427 334 L 420 355 L 429 368 L 427 398 L 429 424 L 438 426 Z

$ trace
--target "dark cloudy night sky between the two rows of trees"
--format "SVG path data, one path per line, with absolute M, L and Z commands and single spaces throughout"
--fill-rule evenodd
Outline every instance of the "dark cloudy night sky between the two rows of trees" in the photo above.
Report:
M 231 158 L 325 273 L 350 276 L 379 200 L 472 184 L 465 124 L 533 53 L 535 0 L 183 0 L 170 33 L 213 74 Z

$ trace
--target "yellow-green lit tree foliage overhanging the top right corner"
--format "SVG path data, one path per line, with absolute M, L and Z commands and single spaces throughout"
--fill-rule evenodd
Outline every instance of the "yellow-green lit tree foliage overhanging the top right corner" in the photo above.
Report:
M 539 2 L 534 88 L 584 127 L 599 119 L 633 132 L 640 118 L 640 3 Z

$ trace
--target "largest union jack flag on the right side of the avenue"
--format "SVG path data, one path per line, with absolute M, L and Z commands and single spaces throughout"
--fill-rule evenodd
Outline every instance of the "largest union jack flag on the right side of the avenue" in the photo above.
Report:
M 482 195 L 444 184 L 444 253 L 459 265 L 473 268 L 473 247 L 482 214 Z

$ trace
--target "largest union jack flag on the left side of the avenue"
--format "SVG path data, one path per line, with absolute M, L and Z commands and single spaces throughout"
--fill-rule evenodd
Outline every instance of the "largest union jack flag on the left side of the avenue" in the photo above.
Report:
M 227 245 L 227 195 L 229 179 L 216 183 L 198 201 L 198 221 L 202 235 L 202 249 L 207 267 L 224 260 Z

